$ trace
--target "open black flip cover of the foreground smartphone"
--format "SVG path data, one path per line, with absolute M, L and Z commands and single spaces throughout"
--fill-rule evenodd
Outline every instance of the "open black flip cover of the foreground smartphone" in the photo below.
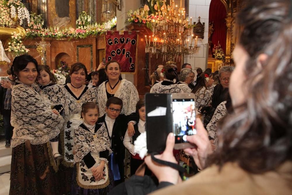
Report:
M 165 149 L 167 135 L 172 132 L 171 104 L 171 94 L 145 94 L 148 153 Z

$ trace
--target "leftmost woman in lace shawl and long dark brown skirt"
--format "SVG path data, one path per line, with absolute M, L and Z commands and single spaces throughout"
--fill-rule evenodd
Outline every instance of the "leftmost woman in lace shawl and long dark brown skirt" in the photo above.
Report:
M 60 133 L 63 118 L 54 114 L 34 84 L 38 63 L 32 56 L 15 57 L 11 72 L 12 159 L 9 194 L 60 194 L 50 163 L 48 141 Z

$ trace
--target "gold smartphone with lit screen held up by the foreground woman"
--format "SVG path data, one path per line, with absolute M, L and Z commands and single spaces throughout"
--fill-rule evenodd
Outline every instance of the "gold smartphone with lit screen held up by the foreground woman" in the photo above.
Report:
M 194 147 L 187 141 L 187 135 L 197 133 L 196 130 L 196 105 L 193 93 L 171 94 L 172 99 L 172 130 L 175 135 L 174 149 Z

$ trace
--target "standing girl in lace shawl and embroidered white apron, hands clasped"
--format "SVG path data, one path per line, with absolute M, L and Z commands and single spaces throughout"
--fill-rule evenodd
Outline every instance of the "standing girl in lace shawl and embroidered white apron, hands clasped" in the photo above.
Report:
M 96 123 L 98 107 L 82 105 L 83 122 L 74 130 L 75 154 L 72 194 L 107 194 L 113 187 L 107 158 L 112 153 L 105 123 Z

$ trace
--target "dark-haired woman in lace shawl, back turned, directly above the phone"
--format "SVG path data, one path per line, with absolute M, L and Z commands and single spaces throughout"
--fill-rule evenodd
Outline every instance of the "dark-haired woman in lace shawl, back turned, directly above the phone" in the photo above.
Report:
M 156 83 L 150 89 L 150 93 L 185 93 L 186 87 L 175 84 L 175 78 L 177 76 L 177 68 L 174 64 L 165 65 L 161 70 L 161 76 L 164 77 L 164 80 Z

